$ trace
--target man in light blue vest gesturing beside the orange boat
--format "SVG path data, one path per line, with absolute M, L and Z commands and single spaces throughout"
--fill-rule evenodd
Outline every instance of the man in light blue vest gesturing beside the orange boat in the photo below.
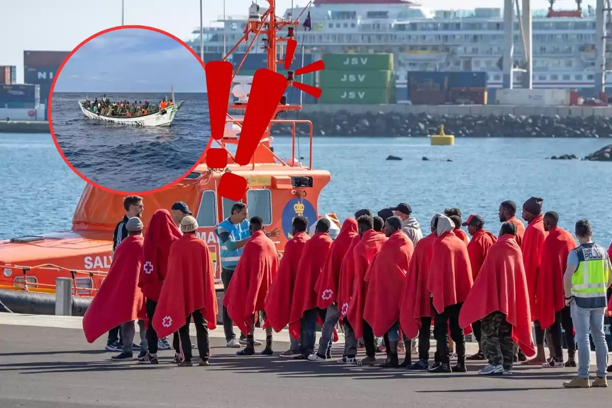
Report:
M 231 207 L 230 217 L 223 220 L 215 229 L 215 234 L 219 237 L 220 261 L 221 261 L 221 280 L 223 281 L 223 290 L 226 291 L 236 265 L 242 255 L 242 247 L 246 245 L 251 237 L 251 232 L 248 229 L 248 209 L 244 202 L 235 202 Z M 266 236 L 278 237 L 280 231 L 275 228 L 272 231 L 266 232 Z M 228 311 L 223 306 L 223 332 L 225 332 L 225 341 L 228 347 L 241 347 L 241 342 L 236 339 L 234 333 L 233 322 L 228 316 Z M 247 339 L 242 338 L 243 343 Z M 261 346 L 261 341 L 255 340 L 254 346 Z

